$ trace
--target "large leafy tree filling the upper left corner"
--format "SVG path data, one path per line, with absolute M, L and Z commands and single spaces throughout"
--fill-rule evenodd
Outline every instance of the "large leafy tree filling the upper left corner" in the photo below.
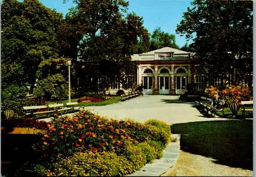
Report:
M 4 0 L 2 5 L 2 85 L 35 84 L 38 65 L 56 57 L 56 29 L 62 14 L 38 1 Z

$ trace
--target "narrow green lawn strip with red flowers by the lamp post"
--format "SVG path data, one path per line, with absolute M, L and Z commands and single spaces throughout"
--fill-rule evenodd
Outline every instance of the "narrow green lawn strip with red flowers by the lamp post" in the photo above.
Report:
M 112 100 L 104 100 L 103 102 L 92 102 L 92 103 L 80 103 L 78 104 L 78 106 L 103 106 L 103 105 L 110 105 L 110 104 L 114 104 L 114 103 L 118 103 L 121 99 L 121 96 L 112 96 Z M 77 102 L 78 98 L 73 98 L 71 99 L 71 102 Z M 56 103 L 68 103 L 69 100 L 63 100 L 61 102 L 51 102 L 48 101 L 47 103 L 50 104 L 56 104 Z

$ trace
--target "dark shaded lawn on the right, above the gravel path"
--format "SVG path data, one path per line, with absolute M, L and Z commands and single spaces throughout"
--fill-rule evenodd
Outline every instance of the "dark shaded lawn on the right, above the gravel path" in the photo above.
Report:
M 252 120 L 218 120 L 177 123 L 181 149 L 216 159 L 214 163 L 252 170 Z

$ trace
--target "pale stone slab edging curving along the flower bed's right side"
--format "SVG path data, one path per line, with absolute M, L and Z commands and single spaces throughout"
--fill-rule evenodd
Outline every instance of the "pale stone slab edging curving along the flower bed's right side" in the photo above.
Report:
M 172 134 L 177 138 L 176 142 L 170 142 L 163 150 L 163 157 L 154 160 L 151 164 L 145 164 L 143 168 L 126 176 L 164 176 L 172 168 L 180 156 L 180 134 Z

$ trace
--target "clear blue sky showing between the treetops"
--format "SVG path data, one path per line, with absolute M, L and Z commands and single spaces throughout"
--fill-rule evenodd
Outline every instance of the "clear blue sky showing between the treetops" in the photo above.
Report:
M 69 11 L 72 0 L 66 0 L 65 4 L 62 0 L 39 0 L 45 6 L 56 9 L 64 15 Z M 175 33 L 177 24 L 181 21 L 183 12 L 187 7 L 191 7 L 190 0 L 129 0 L 129 11 L 135 12 L 143 17 L 144 27 L 152 33 L 157 27 L 162 31 L 175 34 L 176 42 L 179 46 L 186 43 L 184 36 Z

